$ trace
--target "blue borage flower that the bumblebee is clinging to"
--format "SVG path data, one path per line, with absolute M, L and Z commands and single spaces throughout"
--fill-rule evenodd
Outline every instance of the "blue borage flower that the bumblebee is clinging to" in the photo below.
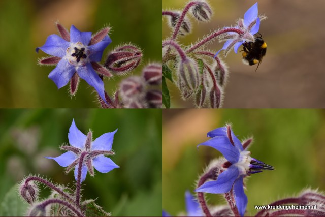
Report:
M 227 33 L 223 34 L 219 40 L 227 40 L 222 49 L 220 49 L 214 57 L 216 57 L 221 50 L 224 50 L 224 55 L 226 56 L 228 52 L 234 48 L 235 53 L 237 53 L 238 48 L 244 43 L 244 42 L 253 42 L 255 40 L 254 34 L 258 32 L 259 24 L 262 20 L 266 19 L 266 16 L 258 15 L 258 8 L 257 8 L 257 2 L 250 7 L 245 15 L 244 19 L 240 19 L 237 22 L 237 26 L 235 28 L 240 29 L 243 31 L 243 34 L 235 34 L 235 33 Z

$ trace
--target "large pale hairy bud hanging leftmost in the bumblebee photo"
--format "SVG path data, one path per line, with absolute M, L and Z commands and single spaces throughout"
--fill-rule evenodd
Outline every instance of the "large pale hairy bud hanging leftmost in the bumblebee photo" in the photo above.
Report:
M 200 84 L 197 64 L 190 58 L 181 60 L 178 67 L 178 82 L 189 90 L 195 91 Z

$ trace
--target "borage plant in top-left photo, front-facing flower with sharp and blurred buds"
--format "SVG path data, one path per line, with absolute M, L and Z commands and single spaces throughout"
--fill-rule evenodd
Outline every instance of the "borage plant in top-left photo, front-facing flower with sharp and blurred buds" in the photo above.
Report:
M 98 93 L 101 108 L 162 106 L 163 93 L 159 90 L 163 77 L 161 64 L 148 64 L 143 70 L 143 75 L 137 76 L 136 87 L 125 88 L 122 84 L 127 81 L 122 81 L 113 97 L 105 91 L 104 78 L 127 75 L 139 66 L 142 51 L 137 46 L 123 44 L 116 47 L 109 52 L 103 65 L 100 62 L 104 49 L 112 42 L 108 36 L 110 27 L 105 27 L 94 35 L 91 32 L 80 32 L 74 25 L 71 26 L 70 32 L 60 23 L 56 23 L 56 27 L 60 36 L 50 35 L 45 44 L 36 48 L 36 51 L 42 50 L 51 55 L 39 59 L 39 64 L 56 65 L 48 77 L 58 88 L 70 82 L 69 93 L 75 96 L 81 78 Z M 134 88 L 137 88 L 137 91 L 134 91 Z

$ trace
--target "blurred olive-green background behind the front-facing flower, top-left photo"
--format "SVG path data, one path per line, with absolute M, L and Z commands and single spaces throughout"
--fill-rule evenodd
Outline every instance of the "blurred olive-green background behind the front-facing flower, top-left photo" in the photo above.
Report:
M 54 69 L 37 65 L 47 56 L 35 48 L 51 34 L 54 22 L 70 29 L 96 33 L 111 26 L 112 43 L 106 54 L 118 45 L 133 43 L 143 50 L 143 61 L 133 74 L 141 74 L 150 61 L 161 61 L 161 2 L 151 0 L 2 0 L 0 1 L 0 107 L 1 108 L 97 108 L 93 88 L 81 80 L 78 92 L 70 98 L 69 85 L 57 90 L 48 78 Z M 106 80 L 112 95 L 125 76 Z

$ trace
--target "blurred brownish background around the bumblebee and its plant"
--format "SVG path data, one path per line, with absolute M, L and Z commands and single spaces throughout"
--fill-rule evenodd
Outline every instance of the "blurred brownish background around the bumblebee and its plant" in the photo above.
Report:
M 188 1 L 163 0 L 163 9 L 181 10 Z M 224 58 L 230 77 L 225 87 L 223 108 L 325 108 L 325 1 L 314 0 L 209 0 L 213 16 L 210 22 L 192 20 L 191 34 L 179 38 L 190 45 L 211 31 L 235 25 L 253 4 L 258 13 L 268 17 L 261 22 L 259 33 L 267 43 L 263 63 L 246 66 L 242 54 L 231 51 Z M 171 35 L 167 18 L 163 20 L 163 39 Z M 215 41 L 207 49 L 217 52 L 223 43 Z M 239 51 L 242 50 L 242 46 Z M 222 53 L 221 53 L 222 54 Z M 171 88 L 172 107 L 191 108 L 192 100 L 180 100 L 179 90 Z

